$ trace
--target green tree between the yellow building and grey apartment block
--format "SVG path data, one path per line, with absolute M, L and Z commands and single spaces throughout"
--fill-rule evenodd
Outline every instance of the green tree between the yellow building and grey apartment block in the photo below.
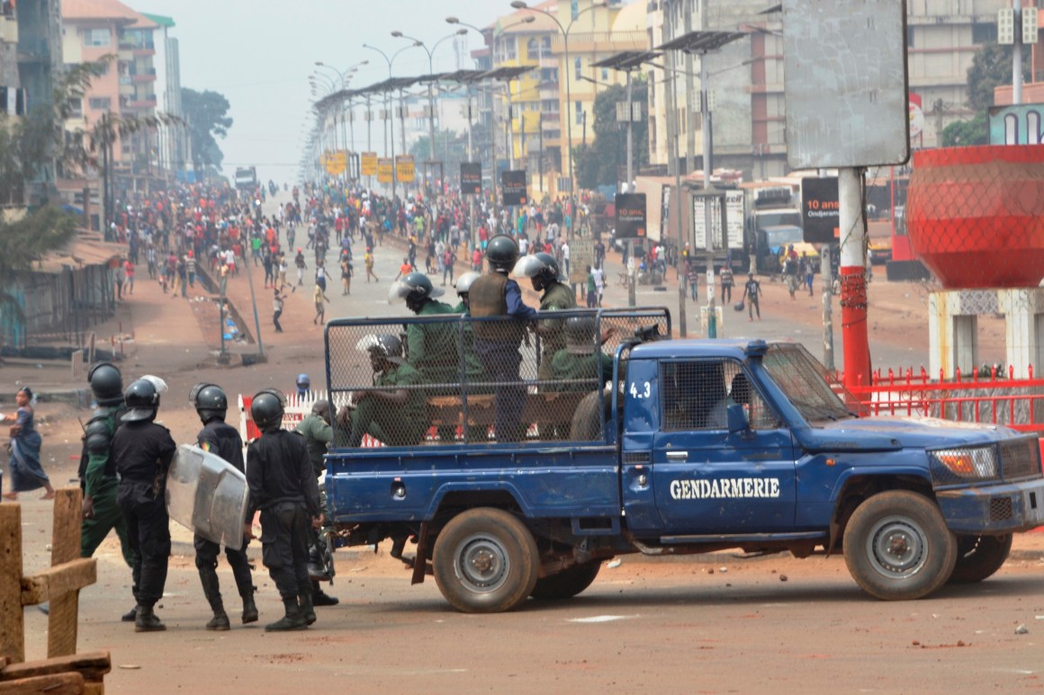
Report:
M 632 82 L 632 100 L 647 103 L 648 83 L 642 78 Z M 626 99 L 625 88 L 614 85 L 602 90 L 594 100 L 594 142 L 573 149 L 573 166 L 580 188 L 613 186 L 618 181 L 617 170 L 627 163 L 627 126 L 616 120 L 617 102 Z M 635 171 L 648 163 L 648 121 L 632 123 Z

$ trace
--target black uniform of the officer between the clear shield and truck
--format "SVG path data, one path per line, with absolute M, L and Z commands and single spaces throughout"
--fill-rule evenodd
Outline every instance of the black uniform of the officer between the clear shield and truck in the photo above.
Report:
M 246 450 L 247 519 L 261 510 L 261 557 L 284 601 L 311 596 L 308 538 L 319 516 L 319 488 L 305 438 L 269 430 Z

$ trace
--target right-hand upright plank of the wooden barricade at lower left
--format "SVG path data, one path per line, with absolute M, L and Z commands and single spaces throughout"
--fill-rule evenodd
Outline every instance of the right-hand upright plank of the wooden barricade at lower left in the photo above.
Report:
M 54 525 L 51 532 L 51 566 L 79 557 L 80 527 L 84 519 L 84 493 L 79 487 L 63 487 L 54 496 Z M 92 581 L 91 583 L 94 583 Z M 79 590 L 52 596 L 47 618 L 47 655 L 76 653 L 79 622 Z

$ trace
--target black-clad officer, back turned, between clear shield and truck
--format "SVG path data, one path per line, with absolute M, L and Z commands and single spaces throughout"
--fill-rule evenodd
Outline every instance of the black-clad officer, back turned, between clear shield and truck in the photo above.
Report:
M 319 489 L 305 439 L 282 429 L 285 399 L 276 389 L 258 392 L 251 403 L 261 436 L 246 449 L 246 519 L 261 511 L 261 556 L 285 615 L 265 631 L 303 630 L 315 622 L 308 578 L 308 528 L 319 523 Z M 252 536 L 250 522 L 243 532 Z

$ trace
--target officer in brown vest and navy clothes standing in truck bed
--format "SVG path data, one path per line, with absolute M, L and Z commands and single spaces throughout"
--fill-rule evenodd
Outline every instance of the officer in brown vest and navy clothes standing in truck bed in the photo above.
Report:
M 480 317 L 511 316 L 528 320 L 537 312 L 522 302 L 522 290 L 507 273 L 519 258 L 515 240 L 504 234 L 490 239 L 485 260 L 490 272 L 471 284 L 468 293 L 471 315 Z M 497 386 L 494 389 L 494 428 L 500 441 L 521 441 L 525 436 L 522 409 L 525 387 L 519 383 L 522 355 L 519 345 L 525 337 L 525 326 L 519 321 L 480 321 L 474 325 L 475 354 L 485 373 Z

